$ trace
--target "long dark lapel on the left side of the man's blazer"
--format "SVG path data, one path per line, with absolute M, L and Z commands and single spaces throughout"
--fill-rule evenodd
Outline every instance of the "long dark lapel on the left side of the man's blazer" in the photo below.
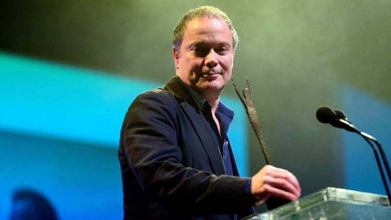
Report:
M 210 125 L 205 120 L 201 110 L 198 109 L 195 101 L 191 98 L 185 88 L 180 84 L 176 77 L 165 85 L 165 87 L 173 93 L 176 97 L 182 100 L 180 104 L 192 123 L 195 133 L 202 143 L 206 154 L 208 155 L 210 164 L 214 173 L 218 175 L 225 174 L 224 164 L 221 158 L 220 150 L 215 144 L 213 133 L 210 132 Z

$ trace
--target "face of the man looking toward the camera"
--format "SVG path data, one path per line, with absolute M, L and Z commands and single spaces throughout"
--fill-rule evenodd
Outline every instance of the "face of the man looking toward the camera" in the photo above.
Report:
M 233 42 L 228 25 L 217 18 L 186 24 L 180 53 L 174 48 L 177 75 L 202 95 L 219 94 L 230 80 Z

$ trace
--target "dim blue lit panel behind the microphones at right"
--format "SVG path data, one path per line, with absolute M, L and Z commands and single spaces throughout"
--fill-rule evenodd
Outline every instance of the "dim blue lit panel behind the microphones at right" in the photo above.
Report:
M 343 88 L 343 97 L 348 119 L 361 131 L 376 137 L 390 158 L 391 105 L 355 88 Z M 346 188 L 386 195 L 373 150 L 365 140 L 357 134 L 344 132 L 343 146 Z

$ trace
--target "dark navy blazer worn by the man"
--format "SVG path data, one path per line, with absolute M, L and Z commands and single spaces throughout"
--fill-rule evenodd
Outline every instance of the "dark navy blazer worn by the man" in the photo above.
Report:
M 226 176 L 210 125 L 173 77 L 137 96 L 125 115 L 118 158 L 124 219 L 233 219 L 252 210 L 248 178 Z M 253 212 L 253 210 L 252 210 Z

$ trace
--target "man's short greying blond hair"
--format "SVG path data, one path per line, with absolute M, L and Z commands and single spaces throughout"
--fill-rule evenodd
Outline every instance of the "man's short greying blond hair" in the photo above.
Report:
M 179 19 L 178 23 L 174 27 L 173 46 L 178 52 L 180 45 L 182 44 L 183 34 L 185 32 L 187 22 L 196 18 L 217 18 L 227 23 L 229 29 L 231 30 L 233 49 L 235 51 L 235 47 L 239 42 L 239 37 L 236 33 L 234 25 L 232 24 L 232 21 L 228 18 L 227 14 L 225 14 L 220 9 L 215 8 L 213 6 L 205 5 L 199 6 L 188 11 L 182 16 L 182 18 Z

